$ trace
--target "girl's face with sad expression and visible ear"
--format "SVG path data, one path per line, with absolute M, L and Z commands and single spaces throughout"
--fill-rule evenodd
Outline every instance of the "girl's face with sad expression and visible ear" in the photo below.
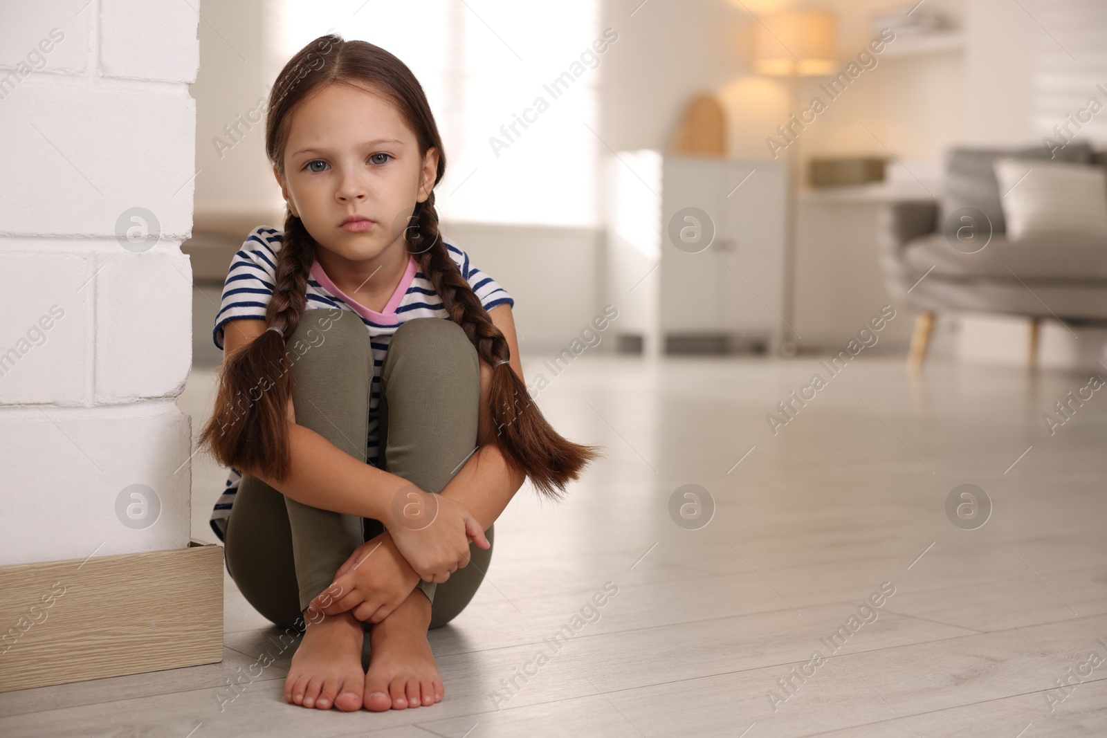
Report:
M 406 259 L 404 231 L 434 186 L 438 154 L 420 156 L 415 134 L 384 97 L 329 84 L 289 121 L 284 175 L 292 215 L 322 247 L 351 261 L 392 251 Z

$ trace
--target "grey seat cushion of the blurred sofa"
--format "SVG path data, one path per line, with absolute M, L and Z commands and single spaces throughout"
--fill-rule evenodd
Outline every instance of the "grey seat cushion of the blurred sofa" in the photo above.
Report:
M 919 274 L 933 267 L 930 278 L 993 278 L 1014 281 L 1014 272 L 1026 283 L 1107 280 L 1107 241 L 1100 239 L 1027 238 L 1012 242 L 1006 236 L 999 233 L 992 236 L 983 250 L 963 253 L 950 246 L 944 236 L 937 233 L 908 242 L 902 254 L 911 271 Z

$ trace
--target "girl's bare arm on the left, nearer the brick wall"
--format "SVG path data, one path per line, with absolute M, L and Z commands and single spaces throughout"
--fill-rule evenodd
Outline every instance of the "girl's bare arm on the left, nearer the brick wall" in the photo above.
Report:
M 224 361 L 266 330 L 263 320 L 231 321 L 224 329 Z M 258 470 L 239 469 L 257 477 L 298 502 L 345 514 L 374 518 L 391 528 L 392 500 L 411 487 L 403 477 L 359 461 L 324 437 L 296 424 L 292 401 L 288 403 L 290 474 L 283 481 L 267 478 Z M 480 520 L 480 518 L 478 518 Z

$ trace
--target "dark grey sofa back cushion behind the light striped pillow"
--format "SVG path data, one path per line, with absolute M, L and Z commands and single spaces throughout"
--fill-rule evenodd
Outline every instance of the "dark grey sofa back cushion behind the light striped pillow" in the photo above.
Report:
M 945 155 L 945 193 L 939 214 L 938 230 L 954 211 L 961 208 L 976 208 L 992 221 L 992 232 L 1003 233 L 1006 222 L 1003 218 L 1000 184 L 995 179 L 992 162 L 995 158 L 1014 156 L 1022 159 L 1051 159 L 1049 149 L 1034 146 L 1022 149 L 1002 148 L 953 148 Z M 1055 152 L 1054 162 L 1088 164 L 1092 147 L 1085 143 L 1072 143 Z

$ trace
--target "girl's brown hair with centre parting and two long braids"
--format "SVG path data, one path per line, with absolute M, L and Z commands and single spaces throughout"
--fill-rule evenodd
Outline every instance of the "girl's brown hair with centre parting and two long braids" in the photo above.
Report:
M 389 100 L 415 133 L 421 156 L 425 157 L 432 146 L 437 150 L 434 184 L 442 180 L 446 169 L 442 139 L 423 87 L 411 70 L 380 46 L 344 41 L 338 35 L 320 37 L 297 52 L 269 94 L 266 153 L 282 174 L 291 113 L 313 91 L 334 83 L 368 86 Z M 526 384 L 510 364 L 499 363 L 510 355 L 507 340 L 446 250 L 438 232 L 433 188 L 426 201 L 416 205 L 412 217 L 415 225 L 404 231 L 410 252 L 434 284 L 449 319 L 465 330 L 477 354 L 493 367 L 488 409 L 497 428 L 495 444 L 507 462 L 529 477 L 542 495 L 560 499 L 565 486 L 601 455 L 602 446 L 583 446 L 558 435 L 530 401 Z M 280 329 L 286 337 L 299 325 L 307 304 L 314 249 L 315 242 L 300 218 L 286 212 L 276 289 L 266 309 L 266 322 Z M 287 371 L 284 340 L 276 331 L 266 331 L 226 357 L 215 410 L 199 439 L 224 466 L 262 470 L 278 480 L 289 472 L 286 413 L 292 375 Z M 272 377 L 275 367 L 282 371 Z M 244 396 L 250 399 L 245 408 Z

